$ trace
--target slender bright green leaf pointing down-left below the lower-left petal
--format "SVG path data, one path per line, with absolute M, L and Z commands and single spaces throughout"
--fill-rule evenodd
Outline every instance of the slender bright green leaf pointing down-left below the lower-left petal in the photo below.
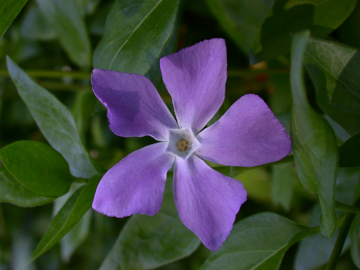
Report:
M 31 260 L 36 260 L 48 251 L 55 243 L 65 236 L 72 227 L 81 219 L 91 207 L 95 191 L 100 181 L 100 176 L 95 175 L 89 182 L 76 190 L 59 212 L 51 220 L 49 228 L 37 245 Z

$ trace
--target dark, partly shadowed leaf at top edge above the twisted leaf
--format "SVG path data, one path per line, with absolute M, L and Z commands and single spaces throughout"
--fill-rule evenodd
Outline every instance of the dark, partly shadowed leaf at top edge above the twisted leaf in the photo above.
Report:
M 287 54 L 290 34 L 310 29 L 324 37 L 351 14 L 357 0 L 277 0 L 252 44 L 251 62 Z

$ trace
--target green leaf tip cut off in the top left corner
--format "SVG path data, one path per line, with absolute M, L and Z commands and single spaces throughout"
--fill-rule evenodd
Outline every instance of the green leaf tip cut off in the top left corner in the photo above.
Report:
M 28 0 L 0 0 L 0 38 Z

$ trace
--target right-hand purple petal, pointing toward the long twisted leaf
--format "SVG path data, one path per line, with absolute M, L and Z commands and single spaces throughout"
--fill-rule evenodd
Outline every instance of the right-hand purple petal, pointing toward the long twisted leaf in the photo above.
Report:
M 252 167 L 281 160 L 291 152 L 283 125 L 257 95 L 236 101 L 196 138 L 198 157 L 227 166 Z

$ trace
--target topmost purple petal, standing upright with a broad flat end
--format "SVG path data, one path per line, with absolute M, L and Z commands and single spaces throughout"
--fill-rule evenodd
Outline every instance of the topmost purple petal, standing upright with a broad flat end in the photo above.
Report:
M 222 38 L 204 40 L 160 59 L 180 128 L 191 127 L 197 134 L 215 115 L 224 101 L 226 66 Z

